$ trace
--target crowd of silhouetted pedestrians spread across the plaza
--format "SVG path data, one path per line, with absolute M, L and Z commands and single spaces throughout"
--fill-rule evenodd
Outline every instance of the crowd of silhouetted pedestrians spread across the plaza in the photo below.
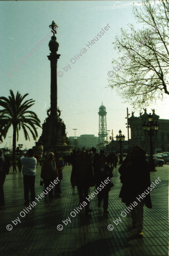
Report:
M 49 198 L 53 198 L 53 188 L 47 191 L 52 181 L 56 178 L 58 183 L 54 187 L 54 194 L 60 196 L 61 194 L 61 180 L 63 179 L 64 166 L 72 165 L 72 172 L 70 183 L 74 188 L 77 186 L 79 194 L 79 205 L 85 206 L 85 214 L 91 213 L 92 209 L 89 208 L 90 201 L 86 201 L 89 195 L 89 188 L 96 185 L 93 193 L 97 195 L 98 207 L 101 207 L 103 201 L 104 214 L 108 214 L 108 193 L 114 184 L 110 181 L 113 177 L 113 169 L 117 167 L 118 156 L 110 152 L 107 156 L 103 150 L 100 153 L 96 152 L 95 148 L 87 151 L 86 149 L 75 150 L 68 156 L 64 155 L 61 160 L 60 152 L 50 152 L 45 156 L 45 160 L 41 166 L 41 182 L 44 184 L 44 194 Z M 141 147 L 134 147 L 131 152 L 128 152 L 127 157 L 124 159 L 122 165 L 119 167 L 120 180 L 122 183 L 119 198 L 121 201 L 129 206 L 136 197 L 145 191 L 150 186 L 150 166 L 146 162 L 146 152 Z M 26 155 L 20 154 L 18 160 L 19 172 L 23 174 L 24 185 L 24 198 L 25 205 L 29 205 L 29 191 L 31 203 L 35 201 L 35 176 L 37 162 L 39 158 L 35 157 L 33 149 L 29 149 Z M 67 162 L 68 161 L 68 162 Z M 13 172 L 16 171 L 16 164 L 13 162 Z M 3 184 L 6 175 L 10 170 L 9 157 L 3 155 L 0 149 L 0 206 L 4 205 Z M 109 182 L 105 182 L 109 180 Z M 104 186 L 103 186 L 104 185 Z M 85 203 L 85 204 L 84 204 Z M 140 203 L 132 210 L 132 227 L 137 228 L 138 234 L 143 236 L 143 205 L 152 208 L 150 193 L 143 198 Z

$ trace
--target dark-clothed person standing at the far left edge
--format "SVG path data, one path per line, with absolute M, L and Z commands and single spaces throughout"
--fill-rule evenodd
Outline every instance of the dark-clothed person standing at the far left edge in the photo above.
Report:
M 3 184 L 5 182 L 6 175 L 10 171 L 10 159 L 8 156 L 3 155 L 3 150 L 0 149 L 0 207 L 5 205 Z

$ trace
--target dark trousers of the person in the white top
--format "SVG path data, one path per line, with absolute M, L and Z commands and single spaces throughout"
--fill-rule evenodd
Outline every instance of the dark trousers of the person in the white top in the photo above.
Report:
M 35 175 L 23 175 L 24 198 L 29 204 L 29 190 L 31 192 L 31 202 L 35 201 Z

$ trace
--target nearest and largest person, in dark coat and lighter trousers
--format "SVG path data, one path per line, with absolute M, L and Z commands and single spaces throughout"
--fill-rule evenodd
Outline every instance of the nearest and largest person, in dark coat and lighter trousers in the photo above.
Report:
M 141 147 L 134 147 L 132 158 L 128 158 L 119 168 L 122 187 L 119 194 L 121 201 L 129 206 L 133 202 L 137 205 L 131 211 L 132 226 L 137 227 L 138 234 L 143 237 L 143 205 L 152 208 L 150 192 L 150 166 L 146 162 L 146 152 Z M 142 193 L 146 197 L 138 200 Z

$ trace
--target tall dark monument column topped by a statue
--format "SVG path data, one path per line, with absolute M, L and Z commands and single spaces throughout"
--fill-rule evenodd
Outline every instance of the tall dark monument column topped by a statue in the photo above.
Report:
M 51 27 L 51 32 L 53 33 L 49 42 L 51 53 L 48 56 L 51 62 L 51 106 L 47 110 L 48 117 L 42 124 L 42 134 L 36 146 L 41 143 L 43 152 L 69 152 L 71 146 L 65 133 L 66 126 L 61 119 L 61 110 L 57 107 L 57 60 L 61 56 L 57 54 L 59 44 L 54 35 L 57 33 L 55 30 L 57 25 L 52 21 L 49 27 Z

